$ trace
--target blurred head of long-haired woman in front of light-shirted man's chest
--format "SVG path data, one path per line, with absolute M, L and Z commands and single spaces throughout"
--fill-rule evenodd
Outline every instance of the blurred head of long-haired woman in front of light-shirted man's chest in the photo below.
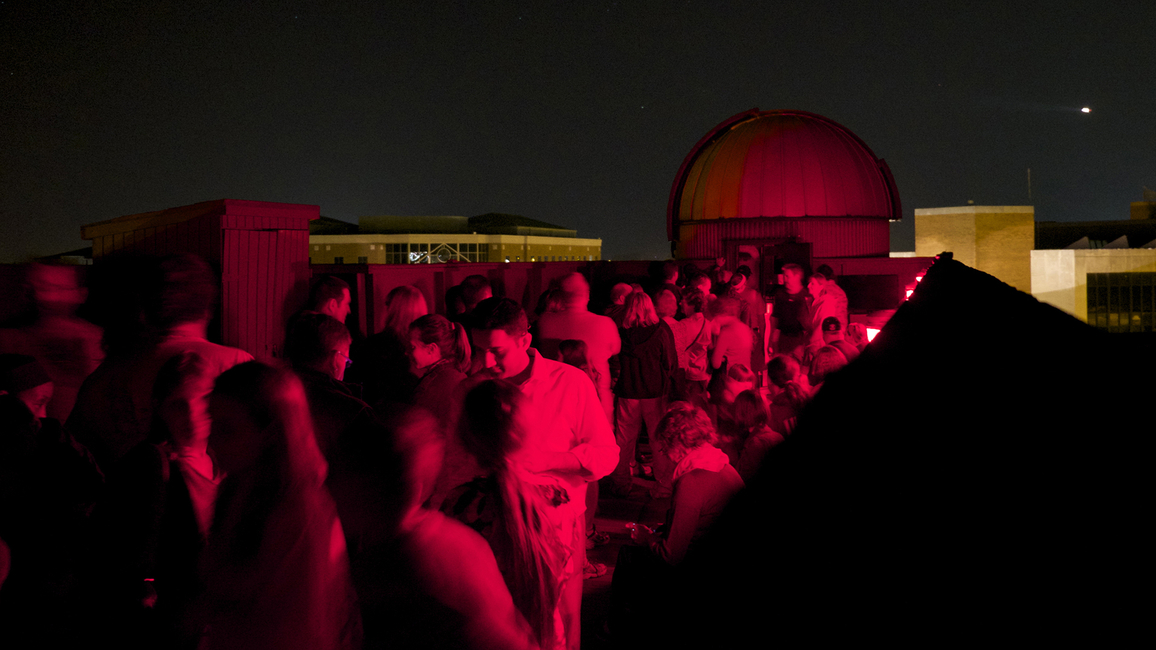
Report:
M 466 393 L 458 436 L 480 466 L 499 468 L 521 449 L 526 436 L 524 404 L 521 391 L 502 379 L 488 379 Z

